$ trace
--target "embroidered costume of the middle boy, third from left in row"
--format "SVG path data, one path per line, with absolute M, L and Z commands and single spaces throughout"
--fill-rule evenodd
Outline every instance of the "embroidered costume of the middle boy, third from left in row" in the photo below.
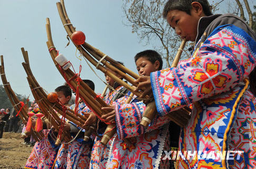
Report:
M 105 97 L 105 102 L 109 105 L 113 104 L 116 99 L 119 99 L 120 97 L 123 97 L 123 94 L 120 93 L 127 93 L 127 89 L 125 89 L 122 86 L 118 86 L 115 88 L 116 91 L 108 92 L 108 94 Z M 125 103 L 126 98 L 119 99 L 118 104 Z M 105 131 L 106 125 L 102 124 L 102 122 L 99 122 L 100 125 L 103 125 L 101 128 L 102 132 Z M 107 145 L 103 146 L 100 143 L 100 138 L 96 136 L 94 139 L 94 144 L 92 147 L 92 153 L 91 153 L 91 161 L 90 161 L 90 168 L 106 168 L 108 155 L 109 155 L 109 149 L 112 143 L 112 139 L 108 142 Z

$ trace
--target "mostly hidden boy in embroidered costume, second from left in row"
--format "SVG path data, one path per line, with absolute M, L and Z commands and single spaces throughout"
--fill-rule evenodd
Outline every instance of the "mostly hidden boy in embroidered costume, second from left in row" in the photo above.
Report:
M 91 80 L 83 80 L 87 85 L 94 90 L 94 83 Z M 71 96 L 71 94 L 70 94 Z M 71 109 L 75 105 L 71 105 Z M 88 113 L 91 111 L 83 101 L 79 102 L 78 113 Z M 96 119 L 92 121 L 96 122 Z M 75 138 L 70 143 L 62 142 L 55 160 L 54 168 L 88 168 L 91 156 L 92 140 L 91 136 L 89 141 L 83 141 L 84 130 L 79 128 L 73 122 L 66 122 L 63 128 L 64 131 L 69 131 Z

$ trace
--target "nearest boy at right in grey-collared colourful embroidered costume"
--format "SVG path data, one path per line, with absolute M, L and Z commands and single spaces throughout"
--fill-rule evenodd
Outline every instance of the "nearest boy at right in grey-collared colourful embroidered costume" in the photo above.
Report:
M 195 41 L 193 55 L 140 77 L 137 90 L 152 87 L 161 116 L 193 104 L 178 167 L 255 168 L 255 34 L 239 17 L 212 15 L 206 0 L 170 0 L 163 14 L 179 36 Z

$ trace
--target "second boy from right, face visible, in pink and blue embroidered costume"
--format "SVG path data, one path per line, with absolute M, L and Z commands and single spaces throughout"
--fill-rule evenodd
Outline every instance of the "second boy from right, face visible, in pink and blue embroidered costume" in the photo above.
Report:
M 149 76 L 151 71 L 160 70 L 163 65 L 162 58 L 154 50 L 139 52 L 135 61 L 140 76 Z M 113 138 L 106 168 L 168 168 L 169 161 L 161 159 L 163 150 L 169 150 L 166 124 L 169 119 L 158 116 L 145 130 L 139 124 L 145 108 L 145 104 L 134 97 L 131 103 L 115 104 L 112 112 L 102 116 L 109 122 L 116 121 L 118 133 Z M 127 138 L 129 141 L 125 142 Z

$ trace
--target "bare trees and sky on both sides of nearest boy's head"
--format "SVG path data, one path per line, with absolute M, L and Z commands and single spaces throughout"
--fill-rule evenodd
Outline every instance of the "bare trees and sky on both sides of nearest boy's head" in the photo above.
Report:
M 251 1 L 251 0 L 249 0 Z M 136 33 L 142 43 L 153 44 L 165 60 L 166 67 L 170 67 L 181 39 L 170 30 L 170 26 L 162 17 L 162 12 L 167 0 L 124 0 L 123 10 L 125 25 L 131 27 L 132 33 Z M 256 6 L 248 3 L 248 0 L 219 0 L 208 2 L 212 5 L 212 11 L 216 13 L 232 13 L 242 17 L 256 32 Z M 250 6 L 251 5 L 251 6 Z M 223 12 L 220 8 L 227 6 Z M 187 43 L 183 52 L 183 58 L 189 56 L 188 48 L 193 43 Z

